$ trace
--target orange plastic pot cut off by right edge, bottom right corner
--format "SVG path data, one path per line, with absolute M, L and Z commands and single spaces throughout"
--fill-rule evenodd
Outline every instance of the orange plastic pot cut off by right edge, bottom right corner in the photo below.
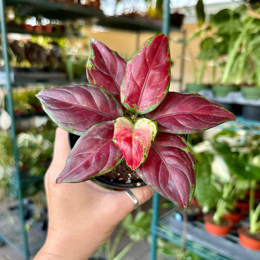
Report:
M 249 227 L 241 226 L 238 229 L 239 243 L 249 249 L 259 250 L 260 249 L 260 234 L 251 234 Z

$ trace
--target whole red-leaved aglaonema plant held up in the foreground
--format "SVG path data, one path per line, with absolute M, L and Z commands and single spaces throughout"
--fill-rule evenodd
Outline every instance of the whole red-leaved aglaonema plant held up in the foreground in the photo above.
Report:
M 169 92 L 170 50 L 160 34 L 128 60 L 92 39 L 89 84 L 44 90 L 37 96 L 62 129 L 80 135 L 57 183 L 108 173 L 123 160 L 156 192 L 186 210 L 196 162 L 183 134 L 235 116 L 199 94 Z

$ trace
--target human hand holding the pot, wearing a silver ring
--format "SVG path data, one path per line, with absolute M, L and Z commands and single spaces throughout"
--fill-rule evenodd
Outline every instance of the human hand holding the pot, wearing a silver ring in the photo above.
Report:
M 44 178 L 49 213 L 47 239 L 34 260 L 88 259 L 134 209 L 126 192 L 105 189 L 93 181 L 57 184 L 69 153 L 68 133 L 57 128 L 53 161 Z M 139 205 L 154 194 L 149 186 L 131 191 Z

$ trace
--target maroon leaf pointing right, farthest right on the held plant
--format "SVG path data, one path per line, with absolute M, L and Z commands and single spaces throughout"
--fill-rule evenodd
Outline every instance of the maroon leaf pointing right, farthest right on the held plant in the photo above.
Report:
M 160 132 L 196 133 L 236 120 L 227 109 L 200 94 L 169 92 L 159 107 L 146 114 Z

